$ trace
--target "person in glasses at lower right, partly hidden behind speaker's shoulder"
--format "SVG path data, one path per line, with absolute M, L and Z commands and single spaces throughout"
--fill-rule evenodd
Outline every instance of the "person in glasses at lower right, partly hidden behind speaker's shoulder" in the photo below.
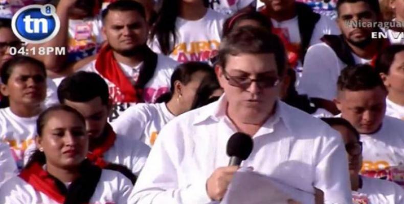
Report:
M 404 202 L 404 189 L 393 182 L 359 175 L 362 166 L 362 142 L 359 133 L 343 118 L 322 118 L 340 132 L 347 151 L 354 204 L 398 204 Z

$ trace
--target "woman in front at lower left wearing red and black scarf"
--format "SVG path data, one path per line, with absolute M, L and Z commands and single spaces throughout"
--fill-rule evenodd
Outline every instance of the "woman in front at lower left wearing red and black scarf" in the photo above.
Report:
M 38 150 L 21 173 L 0 189 L 0 203 L 127 203 L 132 184 L 118 171 L 86 159 L 85 120 L 59 105 L 38 117 Z

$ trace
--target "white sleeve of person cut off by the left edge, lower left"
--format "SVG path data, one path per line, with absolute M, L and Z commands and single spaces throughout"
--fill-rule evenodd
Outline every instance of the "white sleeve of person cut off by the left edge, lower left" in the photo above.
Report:
M 10 146 L 0 143 L 0 187 L 17 174 L 17 165 L 11 156 Z

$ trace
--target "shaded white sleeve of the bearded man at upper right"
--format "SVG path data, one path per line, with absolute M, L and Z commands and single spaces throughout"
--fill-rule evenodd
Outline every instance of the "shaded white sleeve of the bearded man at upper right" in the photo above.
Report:
M 338 61 L 336 54 L 325 43 L 309 47 L 304 58 L 298 91 L 310 97 L 334 99 L 336 82 L 340 75 Z

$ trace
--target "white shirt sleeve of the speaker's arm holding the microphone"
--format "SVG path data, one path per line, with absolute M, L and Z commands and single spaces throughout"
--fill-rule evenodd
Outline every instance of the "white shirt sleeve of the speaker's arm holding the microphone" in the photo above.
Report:
M 208 203 L 207 178 L 201 176 L 197 182 L 178 186 L 177 171 L 184 157 L 184 139 L 173 123 L 166 125 L 153 148 L 140 176 L 129 196 L 128 203 Z

